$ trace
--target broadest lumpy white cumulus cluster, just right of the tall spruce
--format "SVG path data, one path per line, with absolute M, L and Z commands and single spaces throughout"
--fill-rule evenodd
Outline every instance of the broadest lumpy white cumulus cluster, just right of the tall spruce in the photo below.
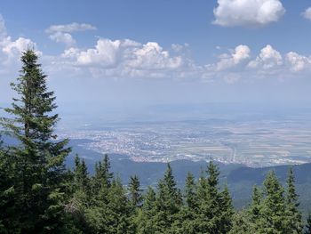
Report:
M 105 77 L 167 77 L 184 65 L 181 55 L 171 56 L 156 42 L 140 44 L 130 39 L 108 38 L 100 38 L 93 48 L 86 50 L 68 48 L 55 62 L 85 67 Z M 187 65 L 190 66 L 188 62 Z

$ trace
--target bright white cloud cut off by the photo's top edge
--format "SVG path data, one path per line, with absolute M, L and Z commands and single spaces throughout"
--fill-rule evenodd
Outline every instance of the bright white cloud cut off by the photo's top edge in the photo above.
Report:
M 279 0 L 218 0 L 214 24 L 258 27 L 279 20 L 285 12 Z

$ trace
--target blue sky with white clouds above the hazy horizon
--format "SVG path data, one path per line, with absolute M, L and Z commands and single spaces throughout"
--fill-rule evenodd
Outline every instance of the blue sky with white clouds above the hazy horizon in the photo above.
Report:
M 0 106 L 34 46 L 62 108 L 308 105 L 309 0 L 1 1 Z

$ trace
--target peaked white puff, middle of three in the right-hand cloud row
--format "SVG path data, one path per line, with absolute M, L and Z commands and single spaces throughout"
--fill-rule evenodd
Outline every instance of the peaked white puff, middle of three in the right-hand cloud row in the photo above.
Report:
M 283 64 L 283 58 L 280 52 L 276 51 L 270 44 L 261 49 L 259 56 L 250 61 L 248 66 L 252 69 L 274 69 Z

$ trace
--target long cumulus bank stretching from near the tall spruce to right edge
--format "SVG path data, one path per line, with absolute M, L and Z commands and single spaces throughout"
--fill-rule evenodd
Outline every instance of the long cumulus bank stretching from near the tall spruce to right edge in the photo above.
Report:
M 248 45 L 239 44 L 219 55 L 219 61 L 198 65 L 182 48 L 173 45 L 170 52 L 156 42 L 141 44 L 130 39 L 100 38 L 92 48 L 71 47 L 51 62 L 50 68 L 89 72 L 92 77 L 149 77 L 187 80 L 224 80 L 227 84 L 244 78 L 294 77 L 311 68 L 311 59 L 297 52 L 281 54 L 270 44 L 252 57 Z M 311 69 L 310 69 L 311 70 Z

